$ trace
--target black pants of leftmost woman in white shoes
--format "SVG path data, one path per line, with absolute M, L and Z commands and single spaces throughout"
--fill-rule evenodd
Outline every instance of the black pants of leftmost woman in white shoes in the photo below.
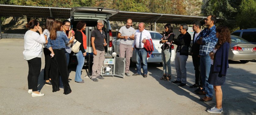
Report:
M 27 75 L 27 84 L 28 89 L 32 91 L 37 91 L 38 77 L 41 70 L 41 58 L 36 57 L 30 60 L 27 60 L 28 64 L 28 75 Z

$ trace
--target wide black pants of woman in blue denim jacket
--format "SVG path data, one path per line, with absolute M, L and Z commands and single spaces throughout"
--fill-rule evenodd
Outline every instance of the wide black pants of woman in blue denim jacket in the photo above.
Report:
M 51 58 L 51 81 L 53 86 L 53 92 L 59 91 L 59 78 L 64 86 L 64 94 L 71 93 L 71 88 L 68 83 L 68 68 L 67 68 L 67 59 L 65 55 L 65 49 L 53 49 L 54 56 Z

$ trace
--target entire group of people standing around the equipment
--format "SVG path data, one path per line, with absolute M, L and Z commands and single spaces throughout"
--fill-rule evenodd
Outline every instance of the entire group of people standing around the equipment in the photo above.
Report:
M 196 93 L 206 95 L 201 98 L 201 101 L 212 100 L 213 90 L 215 90 L 216 107 L 210 108 L 207 111 L 210 113 L 221 113 L 222 108 L 222 90 L 221 85 L 225 82 L 225 76 L 228 65 L 228 50 L 231 42 L 230 32 L 226 26 L 218 26 L 216 28 L 216 17 L 214 15 L 207 16 L 205 25 L 207 28 L 201 31 L 201 23 L 193 23 L 193 46 L 192 59 L 195 67 L 195 84 L 191 88 L 199 87 L 195 90 Z M 98 79 L 104 79 L 101 74 L 101 66 L 105 59 L 106 36 L 102 31 L 104 26 L 103 20 L 97 21 L 97 29 L 91 34 L 91 45 L 93 48 L 93 67 L 91 79 L 95 82 Z M 137 57 L 137 72 L 133 76 L 142 75 L 147 77 L 147 57 L 153 51 L 152 38 L 145 29 L 145 23 L 140 22 L 138 30 L 132 26 L 132 19 L 127 19 L 126 25 L 121 27 L 117 38 L 120 39 L 119 56 L 126 58 L 125 75 L 130 76 L 130 58 L 133 55 L 133 50 L 136 51 Z M 46 85 L 52 85 L 53 92 L 64 89 L 64 94 L 71 93 L 68 78 L 68 63 L 71 56 L 71 44 L 74 39 L 81 43 L 79 52 L 75 53 L 78 65 L 75 73 L 75 82 L 84 83 L 81 79 L 81 70 L 86 56 L 86 35 L 83 30 L 86 28 L 86 22 L 79 21 L 76 25 L 77 31 L 74 32 L 70 28 L 70 22 L 55 21 L 54 18 L 47 18 L 46 28 L 42 32 L 37 20 L 31 20 L 26 27 L 29 29 L 24 36 L 24 59 L 27 60 L 29 66 L 28 72 L 28 93 L 32 93 L 32 97 L 43 96 L 43 93 L 38 92 L 37 83 L 41 69 L 42 44 L 45 54 L 45 69 L 44 79 Z M 188 48 L 191 42 L 191 36 L 187 32 L 188 25 L 181 24 L 177 39 L 173 33 L 171 24 L 164 26 L 165 32 L 159 43 L 163 44 L 162 62 L 163 62 L 163 77 L 162 80 L 171 79 L 171 45 L 176 44 L 175 68 L 177 79 L 172 83 L 179 83 L 178 86 L 185 86 L 187 82 L 186 61 L 188 59 Z M 38 34 L 37 31 L 40 33 Z M 133 40 L 133 41 L 132 41 Z M 141 72 L 141 67 L 143 72 Z M 97 79 L 98 78 L 98 79 Z

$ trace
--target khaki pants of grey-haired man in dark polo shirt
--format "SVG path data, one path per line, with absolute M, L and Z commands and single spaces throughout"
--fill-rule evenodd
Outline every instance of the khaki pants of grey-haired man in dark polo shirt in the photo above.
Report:
M 93 67 L 92 67 L 92 79 L 101 75 L 101 67 L 103 65 L 103 61 L 105 60 L 105 51 L 97 51 L 97 55 L 93 55 Z

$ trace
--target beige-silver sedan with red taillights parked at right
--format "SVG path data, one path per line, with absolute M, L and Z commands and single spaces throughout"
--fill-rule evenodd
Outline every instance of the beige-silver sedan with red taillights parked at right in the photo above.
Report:
M 256 45 L 238 36 L 231 35 L 229 60 L 240 60 L 241 63 L 248 63 L 256 59 Z

